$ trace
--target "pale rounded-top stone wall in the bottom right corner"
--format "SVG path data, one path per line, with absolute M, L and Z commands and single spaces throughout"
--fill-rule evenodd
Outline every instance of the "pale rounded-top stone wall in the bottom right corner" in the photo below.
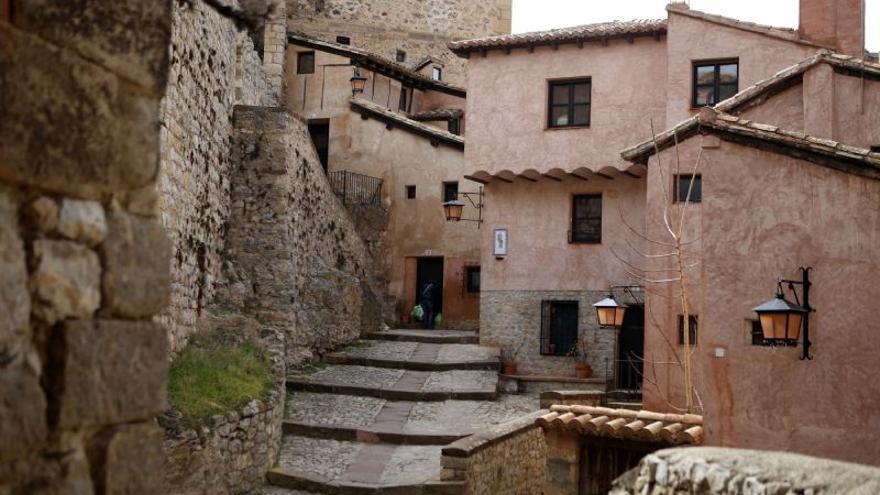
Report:
M 786 452 L 690 447 L 642 459 L 614 495 L 880 493 L 880 468 Z

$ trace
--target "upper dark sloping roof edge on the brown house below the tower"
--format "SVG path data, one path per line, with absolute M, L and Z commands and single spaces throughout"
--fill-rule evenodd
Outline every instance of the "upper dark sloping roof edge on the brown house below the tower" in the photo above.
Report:
M 288 34 L 287 41 L 288 43 L 292 43 L 295 45 L 314 48 L 315 50 L 332 53 L 334 55 L 339 55 L 342 57 L 348 57 L 349 59 L 351 59 L 352 64 L 378 72 L 393 79 L 397 79 L 403 82 L 403 84 L 406 86 L 418 89 L 439 91 L 441 93 L 458 96 L 460 98 L 465 98 L 467 96 L 467 92 L 465 91 L 465 89 L 460 86 L 455 86 L 453 84 L 448 84 L 442 81 L 436 81 L 428 76 L 425 76 L 424 74 L 420 74 L 419 72 L 412 70 L 406 65 L 393 62 L 390 59 L 387 59 L 379 54 L 368 52 L 360 48 L 356 48 L 350 45 L 343 45 L 340 43 L 333 43 L 331 41 L 309 38 L 302 34 L 296 33 Z

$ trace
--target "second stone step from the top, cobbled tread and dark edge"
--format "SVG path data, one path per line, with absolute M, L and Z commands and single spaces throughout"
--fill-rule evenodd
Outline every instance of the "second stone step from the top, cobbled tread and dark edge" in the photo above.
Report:
M 327 354 L 324 362 L 414 371 L 497 371 L 501 367 L 499 351 L 494 347 L 389 340 L 359 340 Z

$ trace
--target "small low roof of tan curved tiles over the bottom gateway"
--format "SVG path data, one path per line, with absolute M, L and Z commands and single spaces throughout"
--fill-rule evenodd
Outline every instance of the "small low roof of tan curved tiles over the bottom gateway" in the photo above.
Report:
M 535 420 L 544 429 L 666 445 L 703 441 L 703 417 L 593 406 L 551 406 Z

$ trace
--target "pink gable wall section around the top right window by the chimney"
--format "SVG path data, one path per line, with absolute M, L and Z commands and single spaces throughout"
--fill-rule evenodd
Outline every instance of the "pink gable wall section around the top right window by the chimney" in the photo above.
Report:
M 745 89 L 814 54 L 819 48 L 669 12 L 666 126 L 693 115 L 693 62 L 739 59 L 739 89 Z M 647 136 L 650 138 L 650 136 Z M 629 144 L 634 144 L 629 143 Z

